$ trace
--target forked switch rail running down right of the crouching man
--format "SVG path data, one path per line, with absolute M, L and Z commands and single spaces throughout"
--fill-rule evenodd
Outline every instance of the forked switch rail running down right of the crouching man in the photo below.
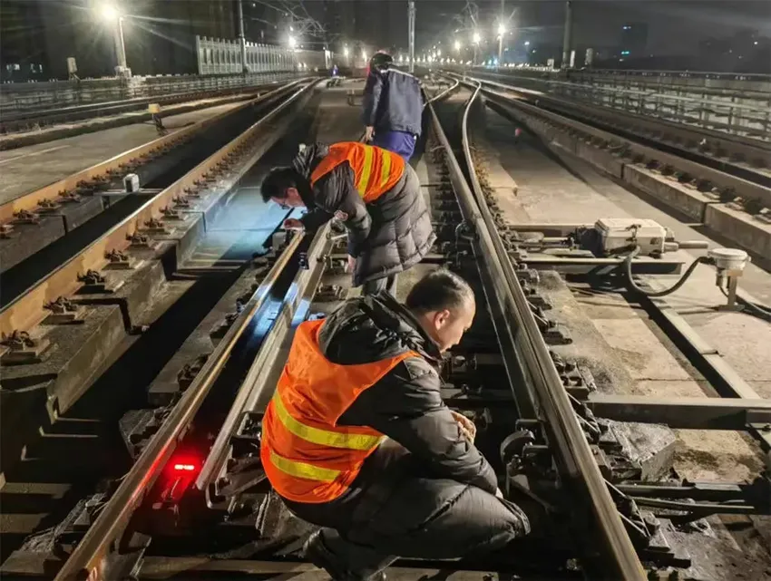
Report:
M 463 172 L 454 159 L 435 111 L 433 108 L 431 110 L 437 135 L 450 161 L 453 183 L 459 186 L 456 190 L 458 198 L 464 199 L 464 217 L 473 225 L 475 244 L 480 247 L 483 261 L 489 261 L 493 274 L 498 275 L 493 277 L 496 286 L 494 292 L 503 300 L 506 312 L 512 317 L 508 324 L 515 327 L 515 345 L 520 350 L 519 358 L 527 366 L 532 380 L 532 385 L 528 387 L 532 392 L 539 418 L 549 435 L 561 477 L 565 484 L 577 489 L 590 502 L 590 515 L 587 516 L 592 519 L 592 524 L 600 536 L 600 545 L 597 548 L 602 558 L 596 575 L 614 580 L 643 581 L 647 578 L 645 571 L 610 498 L 605 480 L 600 474 L 586 435 L 581 430 L 560 376 L 551 361 L 549 350 L 543 342 L 476 179 L 468 139 L 468 116 L 480 92 L 481 85 L 478 85 L 467 102 L 462 121 L 464 158 L 473 189 L 469 189 L 465 183 Z

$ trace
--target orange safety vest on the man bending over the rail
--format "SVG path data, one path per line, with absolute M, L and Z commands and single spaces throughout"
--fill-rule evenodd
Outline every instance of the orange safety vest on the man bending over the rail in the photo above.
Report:
M 344 161 L 354 170 L 354 184 L 365 203 L 393 188 L 405 173 L 402 156 L 357 141 L 344 141 L 329 146 L 329 153 L 310 174 L 311 186 Z

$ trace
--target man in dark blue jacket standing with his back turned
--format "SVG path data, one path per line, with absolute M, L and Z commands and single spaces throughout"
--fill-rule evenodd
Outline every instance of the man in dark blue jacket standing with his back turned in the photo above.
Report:
M 369 62 L 364 89 L 365 140 L 409 161 L 420 137 L 423 98 L 420 82 L 393 68 L 393 63 L 384 52 L 375 53 Z

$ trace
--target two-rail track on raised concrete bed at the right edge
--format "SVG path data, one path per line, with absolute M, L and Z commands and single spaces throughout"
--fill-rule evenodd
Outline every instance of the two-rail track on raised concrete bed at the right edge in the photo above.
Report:
M 495 111 L 554 148 L 704 224 L 754 257 L 766 263 L 771 259 L 767 143 L 567 102 L 487 79 L 473 82 L 483 83 L 483 95 Z

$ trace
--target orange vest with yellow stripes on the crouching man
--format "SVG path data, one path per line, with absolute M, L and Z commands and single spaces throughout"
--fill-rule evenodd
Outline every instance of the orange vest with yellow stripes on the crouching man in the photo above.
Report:
M 287 364 L 262 419 L 260 459 L 285 499 L 337 499 L 385 438 L 364 426 L 337 425 L 360 393 L 415 352 L 360 365 L 331 363 L 318 346 L 324 321 L 298 325 Z

